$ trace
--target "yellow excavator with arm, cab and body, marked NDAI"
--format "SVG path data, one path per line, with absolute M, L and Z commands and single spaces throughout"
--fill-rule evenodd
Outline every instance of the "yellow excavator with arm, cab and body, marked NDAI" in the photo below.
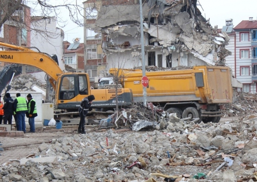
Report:
M 57 62 L 48 54 L 33 51 L 31 48 L 0 42 L 0 47 L 8 48 L 0 51 L 0 61 L 23 65 L 31 65 L 44 71 L 55 90 L 55 109 L 77 111 L 81 100 L 93 94 L 95 100 L 92 108 L 97 111 L 114 110 L 116 104 L 128 107 L 133 102 L 131 89 L 118 89 L 118 103 L 115 101 L 115 89 L 90 89 L 87 73 L 63 72 Z

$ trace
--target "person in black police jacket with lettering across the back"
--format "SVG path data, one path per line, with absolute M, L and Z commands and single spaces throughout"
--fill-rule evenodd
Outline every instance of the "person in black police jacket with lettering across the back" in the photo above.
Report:
M 12 120 L 12 114 L 13 114 L 13 99 L 11 98 L 10 93 L 6 93 L 5 94 L 5 104 L 3 107 L 4 110 L 4 124 L 11 124 L 11 120 Z

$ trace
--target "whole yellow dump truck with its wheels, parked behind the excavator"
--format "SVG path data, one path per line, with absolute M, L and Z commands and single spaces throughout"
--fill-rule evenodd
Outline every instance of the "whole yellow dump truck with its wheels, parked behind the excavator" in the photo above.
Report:
M 142 102 L 142 70 L 112 68 L 110 74 L 119 75 L 123 88 L 132 89 L 136 102 Z M 177 113 L 182 118 L 200 118 L 204 122 L 219 122 L 232 102 L 233 88 L 229 67 L 194 66 L 192 69 L 147 71 L 149 84 L 147 101 L 164 111 Z

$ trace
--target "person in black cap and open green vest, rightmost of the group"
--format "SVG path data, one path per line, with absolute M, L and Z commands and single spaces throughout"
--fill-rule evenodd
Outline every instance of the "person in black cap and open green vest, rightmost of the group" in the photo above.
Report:
M 28 103 L 28 117 L 29 131 L 30 133 L 35 133 L 35 117 L 37 117 L 37 106 L 36 101 L 32 98 L 31 94 L 27 95 Z

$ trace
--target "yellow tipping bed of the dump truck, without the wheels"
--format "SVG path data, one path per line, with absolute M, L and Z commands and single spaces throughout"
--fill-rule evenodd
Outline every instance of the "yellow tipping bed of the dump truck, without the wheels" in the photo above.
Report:
M 112 73 L 115 69 L 110 70 Z M 124 69 L 124 88 L 131 88 L 134 101 L 142 101 L 142 71 Z M 230 103 L 233 97 L 230 68 L 219 66 L 195 66 L 192 69 L 149 71 L 148 102 Z

